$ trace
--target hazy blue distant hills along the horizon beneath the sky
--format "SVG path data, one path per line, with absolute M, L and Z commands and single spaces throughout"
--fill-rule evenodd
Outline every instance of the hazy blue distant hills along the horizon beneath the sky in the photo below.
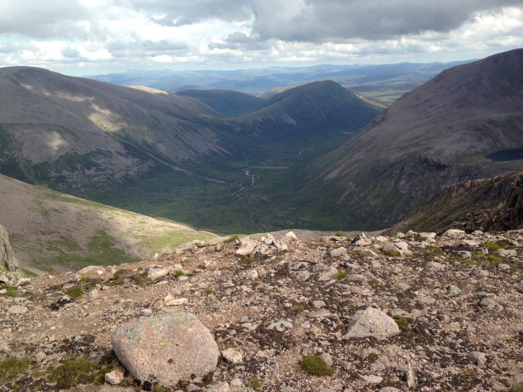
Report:
M 313 67 L 267 67 L 231 71 L 131 70 L 122 74 L 86 76 L 116 85 L 142 85 L 165 91 L 226 89 L 270 98 L 282 88 L 318 80 L 334 80 L 354 91 L 390 103 L 405 92 L 434 78 L 452 63 L 398 63 L 383 65 L 316 65 Z M 271 92 L 272 91 L 272 92 Z M 393 98 L 390 98 L 392 96 Z

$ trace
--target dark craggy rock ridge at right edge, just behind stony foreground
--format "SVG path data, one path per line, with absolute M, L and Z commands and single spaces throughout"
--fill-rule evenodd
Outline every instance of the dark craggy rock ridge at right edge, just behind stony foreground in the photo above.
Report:
M 388 231 L 405 228 L 440 232 L 448 228 L 467 232 L 521 229 L 523 169 L 449 186 L 418 213 Z

